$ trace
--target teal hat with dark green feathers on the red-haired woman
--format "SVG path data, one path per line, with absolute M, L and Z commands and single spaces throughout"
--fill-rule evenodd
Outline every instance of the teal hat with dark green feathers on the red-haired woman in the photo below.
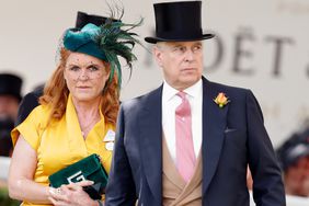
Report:
M 110 80 L 116 71 L 121 87 L 122 66 L 118 57 L 123 57 L 131 70 L 131 62 L 137 59 L 133 48 L 136 43 L 141 43 L 136 38 L 137 34 L 130 31 L 141 23 L 142 19 L 137 24 L 126 24 L 111 18 L 100 26 L 89 23 L 81 30 L 70 28 L 65 32 L 64 46 L 68 50 L 87 54 L 111 64 Z

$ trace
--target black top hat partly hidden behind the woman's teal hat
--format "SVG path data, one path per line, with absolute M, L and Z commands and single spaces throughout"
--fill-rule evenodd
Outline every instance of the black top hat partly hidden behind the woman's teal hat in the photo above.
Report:
M 100 26 L 101 24 L 105 23 L 106 20 L 107 18 L 105 16 L 93 15 L 93 14 L 88 14 L 88 13 L 78 11 L 76 28 L 82 28 L 88 23 L 92 23 L 96 26 Z

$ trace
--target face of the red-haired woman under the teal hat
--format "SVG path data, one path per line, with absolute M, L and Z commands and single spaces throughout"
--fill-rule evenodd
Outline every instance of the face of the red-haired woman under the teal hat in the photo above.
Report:
M 64 73 L 72 98 L 79 102 L 99 99 L 108 75 L 101 59 L 81 53 L 69 55 Z

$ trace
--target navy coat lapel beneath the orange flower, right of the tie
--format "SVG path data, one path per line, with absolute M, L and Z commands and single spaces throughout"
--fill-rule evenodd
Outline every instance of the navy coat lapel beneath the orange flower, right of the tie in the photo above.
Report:
M 216 172 L 227 127 L 229 104 L 220 108 L 214 102 L 219 92 L 225 91 L 203 78 L 203 194 Z

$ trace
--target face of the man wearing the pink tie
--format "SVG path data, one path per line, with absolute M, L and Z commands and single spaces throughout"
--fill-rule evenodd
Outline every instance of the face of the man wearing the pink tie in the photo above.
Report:
M 176 90 L 184 90 L 202 78 L 203 45 L 197 42 L 162 42 L 153 47 L 165 81 Z

